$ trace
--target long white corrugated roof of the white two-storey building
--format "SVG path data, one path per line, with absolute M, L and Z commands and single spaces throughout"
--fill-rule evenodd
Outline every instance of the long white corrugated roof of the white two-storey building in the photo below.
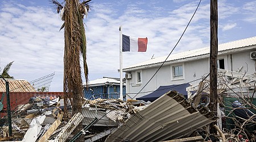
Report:
M 256 36 L 250 37 L 250 38 L 247 38 L 247 39 L 232 41 L 232 42 L 229 42 L 229 43 L 218 44 L 218 52 L 227 51 L 227 50 L 230 50 L 230 49 L 248 47 L 248 46 L 251 46 L 251 45 L 256 45 Z M 135 67 L 144 66 L 144 65 L 156 64 L 156 63 L 163 62 L 164 60 L 172 61 L 172 60 L 185 59 L 185 58 L 188 58 L 188 57 L 207 55 L 209 53 L 210 53 L 210 47 L 194 49 L 194 50 L 191 50 L 191 51 L 184 51 L 184 52 L 181 52 L 181 53 L 176 53 L 174 55 L 171 55 L 171 56 L 168 57 L 167 60 L 166 60 L 167 56 L 158 57 L 158 58 L 155 58 L 155 59 L 147 60 L 147 61 L 135 64 L 135 65 L 128 66 L 124 69 L 135 68 Z

